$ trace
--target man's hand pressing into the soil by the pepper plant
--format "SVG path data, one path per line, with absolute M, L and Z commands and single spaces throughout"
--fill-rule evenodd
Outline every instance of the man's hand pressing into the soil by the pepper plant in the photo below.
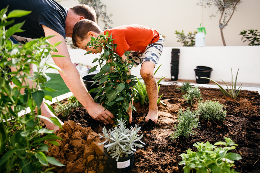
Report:
M 101 121 L 106 124 L 113 124 L 113 118 L 115 117 L 109 110 L 104 110 L 105 108 L 103 106 L 93 101 L 93 103 L 88 106 L 87 112 L 94 120 Z

